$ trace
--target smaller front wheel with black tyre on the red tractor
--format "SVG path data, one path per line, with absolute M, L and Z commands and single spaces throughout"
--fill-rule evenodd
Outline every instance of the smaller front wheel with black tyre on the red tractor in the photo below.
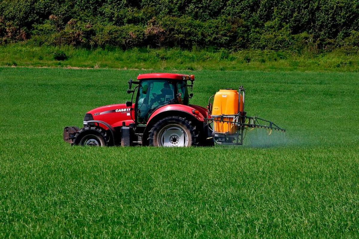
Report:
M 80 146 L 107 146 L 108 137 L 106 131 L 96 126 L 85 126 L 76 134 L 74 145 Z

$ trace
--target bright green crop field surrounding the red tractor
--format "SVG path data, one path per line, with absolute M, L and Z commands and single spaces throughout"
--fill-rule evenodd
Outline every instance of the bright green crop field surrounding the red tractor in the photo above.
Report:
M 1 238 L 358 237 L 359 73 L 194 72 L 194 104 L 244 85 L 248 115 L 287 129 L 273 147 L 63 142 L 143 72 L 0 68 Z

